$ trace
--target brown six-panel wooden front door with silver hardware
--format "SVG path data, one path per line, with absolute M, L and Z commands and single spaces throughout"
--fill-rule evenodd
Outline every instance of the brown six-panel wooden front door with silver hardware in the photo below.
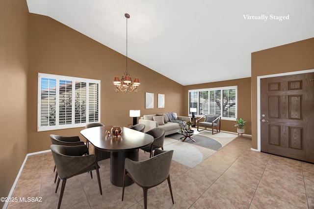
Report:
M 314 163 L 314 73 L 261 79 L 261 151 Z

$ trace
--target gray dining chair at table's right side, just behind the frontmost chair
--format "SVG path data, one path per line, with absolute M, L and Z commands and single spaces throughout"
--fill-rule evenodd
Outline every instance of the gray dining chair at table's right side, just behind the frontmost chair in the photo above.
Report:
M 154 150 L 158 148 L 161 148 L 161 150 L 163 150 L 163 141 L 165 139 L 166 130 L 164 130 L 163 128 L 154 128 L 150 131 L 147 131 L 146 133 L 152 135 L 154 137 L 154 141 L 152 144 L 141 149 L 145 152 L 149 152 L 150 157 L 153 157 Z

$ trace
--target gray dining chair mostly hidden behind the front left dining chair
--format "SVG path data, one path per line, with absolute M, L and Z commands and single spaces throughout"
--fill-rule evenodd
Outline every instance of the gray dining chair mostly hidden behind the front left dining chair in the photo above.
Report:
M 89 155 L 88 147 L 84 144 L 84 142 L 80 141 L 78 136 L 60 136 L 55 134 L 50 134 L 50 139 L 52 144 L 64 145 L 64 146 L 77 146 L 84 145 L 80 152 L 76 153 L 77 156 Z M 55 171 L 55 165 L 53 168 L 53 172 Z M 58 171 L 55 172 L 54 183 L 56 182 L 58 177 Z M 93 174 L 91 172 L 91 177 L 93 178 Z

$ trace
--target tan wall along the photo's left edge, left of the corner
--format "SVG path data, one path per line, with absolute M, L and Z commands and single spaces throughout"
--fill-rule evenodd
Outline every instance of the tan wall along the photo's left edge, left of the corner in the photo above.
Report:
M 27 151 L 27 15 L 25 0 L 0 1 L 0 197 L 8 196 Z

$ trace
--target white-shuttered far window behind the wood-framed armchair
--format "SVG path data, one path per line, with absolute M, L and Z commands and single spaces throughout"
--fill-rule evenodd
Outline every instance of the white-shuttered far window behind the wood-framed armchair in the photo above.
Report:
M 188 109 L 197 108 L 197 116 L 218 114 L 224 120 L 235 120 L 236 96 L 237 86 L 189 90 Z

